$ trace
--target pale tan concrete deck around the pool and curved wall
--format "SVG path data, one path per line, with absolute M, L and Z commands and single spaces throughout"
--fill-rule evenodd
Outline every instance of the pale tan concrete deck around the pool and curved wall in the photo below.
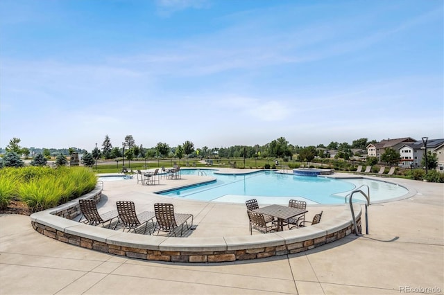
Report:
M 136 178 L 105 181 L 99 211 L 114 209 L 116 200 L 152 211 L 155 202 L 165 202 L 153 190 L 195 178 L 162 179 L 156 186 L 142 186 Z M 368 235 L 259 260 L 191 265 L 135 260 L 40 235 L 28 216 L 0 215 L 0 294 L 399 294 L 413 288 L 443 294 L 444 184 L 374 178 L 406 186 L 411 194 L 369 206 Z M 250 234 L 244 204 L 180 198 L 171 203 L 177 212 L 195 215 L 192 237 Z M 307 218 L 321 210 L 328 220 L 343 206 L 309 206 Z

